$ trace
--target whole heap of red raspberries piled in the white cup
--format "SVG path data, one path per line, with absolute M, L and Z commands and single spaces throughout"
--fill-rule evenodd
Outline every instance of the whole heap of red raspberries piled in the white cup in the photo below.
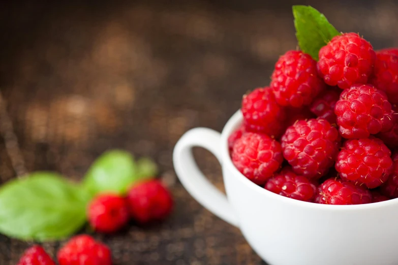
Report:
M 398 197 L 398 48 L 374 51 L 355 33 L 319 60 L 282 55 L 267 87 L 243 96 L 229 137 L 235 167 L 265 189 L 331 205 Z

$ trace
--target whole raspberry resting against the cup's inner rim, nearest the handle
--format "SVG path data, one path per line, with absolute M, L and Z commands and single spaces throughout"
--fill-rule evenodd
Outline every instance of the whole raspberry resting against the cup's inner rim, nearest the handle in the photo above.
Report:
M 283 161 L 281 144 L 267 135 L 247 132 L 236 141 L 232 150 L 235 167 L 256 184 L 279 170 Z

